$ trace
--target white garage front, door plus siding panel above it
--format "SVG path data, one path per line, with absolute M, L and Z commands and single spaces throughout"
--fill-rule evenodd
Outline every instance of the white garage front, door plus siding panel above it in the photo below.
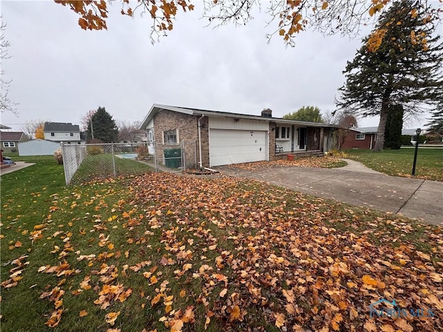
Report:
M 268 160 L 268 129 L 264 121 L 209 118 L 210 166 Z

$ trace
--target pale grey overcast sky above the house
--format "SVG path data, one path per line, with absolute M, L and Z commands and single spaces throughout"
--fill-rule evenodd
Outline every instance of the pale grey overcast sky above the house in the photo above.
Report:
M 354 39 L 307 31 L 291 48 L 279 36 L 266 42 L 273 27 L 264 14 L 242 27 L 205 28 L 194 3 L 196 10 L 180 12 L 174 30 L 152 45 L 150 18 L 120 15 L 120 1 L 109 6 L 108 30 L 85 31 L 78 15 L 53 1 L 2 0 L 11 44 L 2 66 L 19 116 L 1 113 L 1 124 L 80 124 L 99 106 L 132 122 L 154 103 L 256 115 L 270 108 L 277 117 L 304 105 L 333 111 L 345 64 L 370 31 Z M 377 125 L 378 118 L 359 119 L 359 127 Z

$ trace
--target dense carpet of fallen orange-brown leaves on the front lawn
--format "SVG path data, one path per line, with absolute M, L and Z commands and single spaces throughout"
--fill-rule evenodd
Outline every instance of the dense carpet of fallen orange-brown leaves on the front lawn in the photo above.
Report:
M 337 208 L 255 181 L 146 174 L 127 187 L 112 206 L 103 194 L 87 198 L 86 221 L 73 221 L 82 222 L 82 232 L 55 223 L 35 230 L 33 241 L 51 239 L 53 257 L 38 273 L 57 284 L 41 293 L 53 304 L 46 325 L 59 325 L 70 309 L 64 299 L 80 294 L 111 326 L 144 310 L 138 317 L 149 311 L 150 328 L 162 331 L 213 324 L 238 331 L 437 331 L 443 324 L 437 228 L 423 226 L 429 250 L 418 250 L 404 219 Z M 52 218 L 66 223 L 64 209 L 77 196 L 53 203 Z M 390 229 L 404 234 L 395 246 Z M 435 316 L 370 320 L 369 305 L 381 298 L 401 308 L 433 308 Z M 87 307 L 73 311 L 76 317 L 81 308 Z

